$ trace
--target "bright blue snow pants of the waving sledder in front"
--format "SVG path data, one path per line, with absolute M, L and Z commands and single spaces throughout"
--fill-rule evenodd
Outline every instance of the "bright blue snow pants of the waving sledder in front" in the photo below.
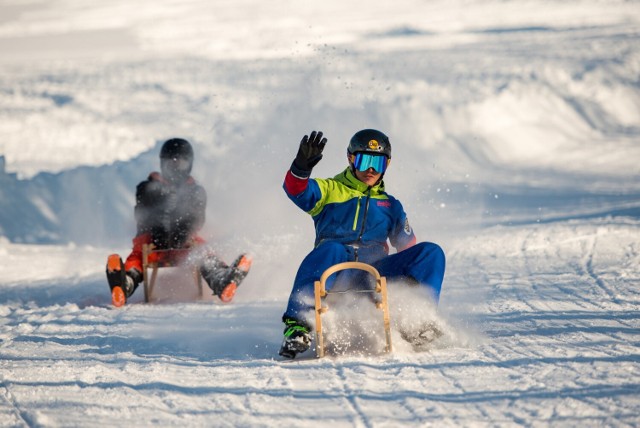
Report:
M 318 281 L 329 267 L 342 262 L 355 261 L 355 251 L 352 246 L 333 241 L 324 242 L 314 248 L 298 268 L 284 318 L 293 318 L 308 324 L 315 308 L 314 282 Z M 436 304 L 440 299 L 445 256 L 444 251 L 437 244 L 420 242 L 391 255 L 360 248 L 358 261 L 375 267 L 380 275 L 387 278 L 387 281 L 397 279 L 417 282 L 426 288 Z M 352 271 L 341 271 L 329 277 L 326 282 L 327 291 L 331 290 L 341 275 L 348 272 Z

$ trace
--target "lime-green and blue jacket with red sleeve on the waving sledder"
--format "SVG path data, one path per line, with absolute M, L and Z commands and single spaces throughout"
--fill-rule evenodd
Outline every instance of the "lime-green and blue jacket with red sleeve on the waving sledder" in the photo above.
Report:
M 382 181 L 368 186 L 350 168 L 326 179 L 300 178 L 288 171 L 283 187 L 313 218 L 315 246 L 337 241 L 388 254 L 389 243 L 397 251 L 416 243 L 402 204 L 385 192 Z

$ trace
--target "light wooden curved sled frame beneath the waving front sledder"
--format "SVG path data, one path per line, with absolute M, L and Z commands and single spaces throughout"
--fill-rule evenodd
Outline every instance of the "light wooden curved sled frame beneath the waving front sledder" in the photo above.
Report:
M 389 321 L 389 303 L 387 300 L 387 279 L 384 276 L 380 276 L 380 273 L 376 268 L 366 263 L 361 262 L 344 262 L 338 263 L 325 270 L 320 276 L 319 281 L 314 283 L 315 303 L 316 303 L 316 356 L 318 358 L 324 357 L 324 337 L 322 335 L 322 317 L 321 315 L 327 312 L 329 309 L 327 306 L 322 306 L 322 299 L 329 294 L 326 290 L 327 279 L 336 272 L 347 269 L 359 269 L 369 272 L 376 279 L 376 286 L 372 293 L 380 294 L 380 302 L 376 303 L 378 309 L 382 309 L 382 317 L 384 322 L 384 335 L 387 344 L 384 348 L 385 353 L 392 351 L 391 346 L 391 326 Z

